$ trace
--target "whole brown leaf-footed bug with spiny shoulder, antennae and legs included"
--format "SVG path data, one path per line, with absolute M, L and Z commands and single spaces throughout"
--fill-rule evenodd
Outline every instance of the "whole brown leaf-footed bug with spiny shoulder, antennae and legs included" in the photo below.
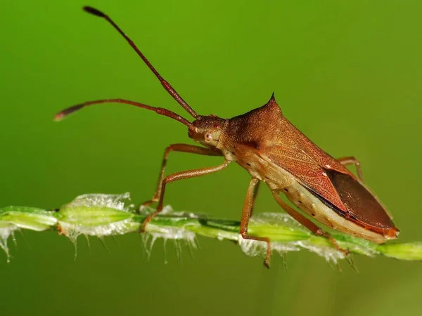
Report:
M 98 103 L 125 103 L 155 111 L 188 126 L 188 136 L 204 147 L 174 144 L 166 148 L 153 199 L 143 205 L 158 202 L 157 210 L 143 222 L 141 231 L 153 216 L 160 213 L 165 188 L 176 180 L 205 176 L 225 169 L 236 162 L 252 176 L 245 197 L 241 218 L 241 236 L 267 242 L 264 264 L 269 267 L 271 244 L 269 238 L 248 235 L 248 223 L 260 182 L 267 183 L 276 202 L 290 216 L 305 225 L 316 235 L 326 236 L 338 248 L 335 240 L 312 220 L 295 211 L 279 196 L 283 192 L 303 213 L 333 230 L 382 243 L 397 238 L 399 230 L 392 223 L 385 207 L 364 185 L 359 161 L 354 157 L 335 159 L 321 150 L 283 116 L 276 99 L 271 96 L 267 104 L 248 113 L 222 119 L 215 115 L 199 115 L 179 96 L 174 88 L 161 77 L 153 65 L 139 51 L 108 15 L 91 7 L 84 11 L 105 18 L 127 40 L 130 46 L 160 80 L 165 90 L 195 119 L 193 122 L 161 107 L 151 107 L 122 99 L 96 100 L 74 105 L 58 113 L 62 119 L 87 105 Z M 222 156 L 219 166 L 173 173 L 165 177 L 165 165 L 170 152 L 190 152 L 207 156 Z M 354 164 L 357 177 L 345 166 Z M 346 249 L 340 249 L 347 253 Z

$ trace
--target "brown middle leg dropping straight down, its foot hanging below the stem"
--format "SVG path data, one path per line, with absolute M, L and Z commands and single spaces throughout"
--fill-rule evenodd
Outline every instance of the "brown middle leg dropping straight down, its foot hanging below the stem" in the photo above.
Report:
M 249 183 L 248 192 L 246 193 L 245 203 L 243 204 L 242 218 L 241 218 L 241 236 L 244 239 L 258 240 L 261 242 L 267 242 L 267 256 L 265 256 L 264 265 L 269 268 L 269 259 L 271 258 L 271 244 L 268 237 L 255 237 L 248 235 L 248 224 L 252 214 L 252 209 L 255 204 L 255 197 L 257 187 L 260 180 L 252 178 Z

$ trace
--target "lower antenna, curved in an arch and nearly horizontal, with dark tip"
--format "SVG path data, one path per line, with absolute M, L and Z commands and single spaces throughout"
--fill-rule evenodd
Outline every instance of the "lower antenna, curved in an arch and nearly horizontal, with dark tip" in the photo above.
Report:
M 187 119 L 184 119 L 179 114 L 176 114 L 170 110 L 164 109 L 162 107 L 151 107 L 150 105 L 145 105 L 143 103 L 137 103 L 134 101 L 129 100 L 123 100 L 123 99 L 105 99 L 105 100 L 96 100 L 96 101 L 89 101 L 85 103 L 81 103 L 78 105 L 73 105 L 72 107 L 68 107 L 67 109 L 63 110 L 62 112 L 56 114 L 54 117 L 55 121 L 60 121 L 61 119 L 64 119 L 69 114 L 72 114 L 73 112 L 76 112 L 77 110 L 82 109 L 82 107 L 87 107 L 88 105 L 94 105 L 94 104 L 100 104 L 100 103 L 124 103 L 129 105 L 134 105 L 135 107 L 142 107 L 146 110 L 154 111 L 157 114 L 164 115 L 165 117 L 170 117 L 172 119 L 175 119 L 176 121 L 181 122 L 182 124 L 185 124 L 188 126 L 189 129 L 193 129 L 193 125 L 190 121 Z

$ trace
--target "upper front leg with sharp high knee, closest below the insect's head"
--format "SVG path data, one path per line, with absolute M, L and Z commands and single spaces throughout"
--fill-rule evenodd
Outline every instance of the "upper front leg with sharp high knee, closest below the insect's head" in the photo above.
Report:
M 165 149 L 164 157 L 162 157 L 162 165 L 161 165 L 160 176 L 158 177 L 157 190 L 155 190 L 153 198 L 141 204 L 141 207 L 148 206 L 160 200 L 162 180 L 164 179 L 165 166 L 167 164 L 167 158 L 169 157 L 170 152 L 190 152 L 192 154 L 203 154 L 205 156 L 221 156 L 219 152 L 210 150 L 209 148 L 205 148 L 205 147 L 199 147 L 199 146 L 187 145 L 187 144 L 170 145 L 169 147 Z

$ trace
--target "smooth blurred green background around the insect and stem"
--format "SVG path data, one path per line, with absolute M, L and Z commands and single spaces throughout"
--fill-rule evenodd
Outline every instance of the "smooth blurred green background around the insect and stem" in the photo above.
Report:
M 200 114 L 232 117 L 267 102 L 334 157 L 354 155 L 395 216 L 422 240 L 422 2 L 6 1 L 1 5 L 0 204 L 56 208 L 89 192 L 150 199 L 162 152 L 186 126 L 103 105 L 54 123 L 63 107 L 127 98 L 187 116 L 110 25 L 105 11 Z M 168 172 L 216 165 L 172 154 Z M 176 210 L 238 219 L 250 177 L 238 166 L 168 187 Z M 263 188 L 256 212 L 281 211 Z M 200 238 L 177 261 L 136 234 L 108 251 L 56 232 L 25 232 L 0 254 L 1 315 L 416 315 L 422 266 L 355 256 L 343 272 L 307 251 L 271 270 L 228 242 Z M 13 244 L 13 243 L 12 243 Z M 2 258 L 2 259 L 1 259 Z

